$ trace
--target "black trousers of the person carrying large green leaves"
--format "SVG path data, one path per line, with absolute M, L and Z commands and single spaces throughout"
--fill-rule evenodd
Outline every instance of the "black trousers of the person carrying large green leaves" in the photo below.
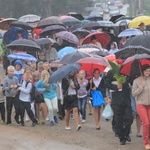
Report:
M 132 108 L 128 105 L 112 105 L 114 112 L 113 129 L 119 139 L 129 136 L 130 127 L 133 123 Z

